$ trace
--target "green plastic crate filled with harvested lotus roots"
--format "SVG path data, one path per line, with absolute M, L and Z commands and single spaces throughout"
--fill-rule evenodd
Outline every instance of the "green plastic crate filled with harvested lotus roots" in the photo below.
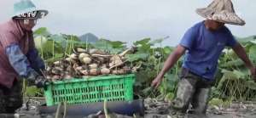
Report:
M 83 79 L 54 81 L 47 85 L 44 96 L 47 106 L 66 102 L 84 104 L 133 99 L 134 74 L 122 76 L 93 76 Z

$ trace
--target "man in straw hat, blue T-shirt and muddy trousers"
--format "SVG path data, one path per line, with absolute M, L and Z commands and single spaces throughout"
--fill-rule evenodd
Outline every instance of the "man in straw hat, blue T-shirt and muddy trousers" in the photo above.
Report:
M 245 25 L 233 8 L 230 0 L 213 0 L 207 8 L 198 8 L 206 20 L 195 24 L 184 34 L 174 52 L 166 59 L 160 74 L 152 81 L 152 87 L 158 87 L 167 70 L 170 70 L 183 53 L 183 68 L 177 84 L 177 95 L 172 108 L 185 113 L 189 104 L 196 114 L 205 115 L 211 92 L 218 58 L 225 47 L 234 50 L 243 60 L 255 79 L 255 67 L 248 59 L 245 49 L 236 42 L 230 30 L 224 24 Z

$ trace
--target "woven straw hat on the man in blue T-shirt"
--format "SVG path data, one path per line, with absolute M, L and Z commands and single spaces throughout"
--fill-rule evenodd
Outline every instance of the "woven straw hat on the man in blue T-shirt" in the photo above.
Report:
M 197 8 L 196 13 L 208 20 L 216 20 L 225 24 L 245 25 L 235 13 L 231 0 L 213 0 L 207 8 Z

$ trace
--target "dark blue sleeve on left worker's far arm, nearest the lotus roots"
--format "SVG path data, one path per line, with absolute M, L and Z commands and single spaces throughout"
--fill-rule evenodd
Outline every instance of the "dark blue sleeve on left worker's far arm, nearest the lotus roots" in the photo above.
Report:
M 26 57 L 29 60 L 32 68 L 38 73 L 41 73 L 41 70 L 45 69 L 44 61 L 39 56 L 38 50 L 36 48 L 30 49 L 26 54 Z

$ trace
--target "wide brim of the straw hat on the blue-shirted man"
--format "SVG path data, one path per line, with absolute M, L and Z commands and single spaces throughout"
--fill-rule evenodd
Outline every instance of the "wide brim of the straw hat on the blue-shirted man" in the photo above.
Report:
M 216 20 L 218 22 L 222 22 L 230 25 L 245 25 L 246 22 L 237 16 L 235 13 L 228 13 L 227 11 L 223 11 L 219 14 L 215 14 L 214 11 L 210 8 L 197 8 L 195 12 L 201 17 L 206 18 L 208 20 Z

